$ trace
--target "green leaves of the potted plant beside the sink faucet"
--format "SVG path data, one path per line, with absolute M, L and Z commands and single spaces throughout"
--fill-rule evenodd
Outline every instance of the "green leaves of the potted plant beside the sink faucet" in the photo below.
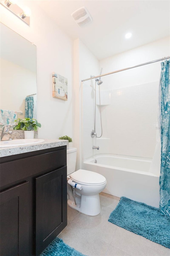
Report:
M 16 119 L 14 121 L 16 123 L 16 126 L 14 127 L 14 130 L 23 130 L 23 131 L 37 131 L 39 127 L 41 127 L 41 124 L 37 122 L 34 118 L 28 118 L 25 117 L 23 119 Z

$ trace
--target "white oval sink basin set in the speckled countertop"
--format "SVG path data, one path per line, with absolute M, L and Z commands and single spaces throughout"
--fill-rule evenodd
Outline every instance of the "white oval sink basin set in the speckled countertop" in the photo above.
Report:
M 44 142 L 44 139 L 13 139 L 10 141 L 0 141 L 1 147 L 27 146 Z

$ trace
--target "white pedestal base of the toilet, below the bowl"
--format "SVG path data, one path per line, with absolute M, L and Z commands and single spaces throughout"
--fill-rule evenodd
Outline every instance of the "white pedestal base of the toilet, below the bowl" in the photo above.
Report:
M 96 195 L 81 195 L 81 197 L 75 197 L 76 205 L 74 200 L 67 200 L 67 205 L 71 208 L 90 216 L 96 216 L 100 213 L 100 198 L 99 194 Z

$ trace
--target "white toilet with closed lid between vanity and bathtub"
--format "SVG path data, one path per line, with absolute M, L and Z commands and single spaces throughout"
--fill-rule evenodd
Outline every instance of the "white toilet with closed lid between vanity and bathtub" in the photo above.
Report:
M 79 169 L 75 171 L 77 148 L 67 149 L 67 205 L 90 216 L 101 211 L 99 193 L 106 187 L 103 175 Z

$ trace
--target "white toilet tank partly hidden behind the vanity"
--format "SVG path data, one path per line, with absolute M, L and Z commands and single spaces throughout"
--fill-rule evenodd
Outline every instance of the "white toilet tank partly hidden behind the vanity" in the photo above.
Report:
M 67 149 L 67 175 L 75 171 L 76 156 L 77 148 L 69 147 L 69 149 Z

